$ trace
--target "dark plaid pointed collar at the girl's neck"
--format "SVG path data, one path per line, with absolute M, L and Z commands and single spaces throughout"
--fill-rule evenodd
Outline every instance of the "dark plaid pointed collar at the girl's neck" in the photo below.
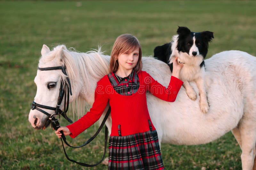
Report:
M 132 73 L 129 74 L 127 77 L 119 77 L 118 75 L 112 73 L 108 74 L 108 78 L 111 82 L 111 84 L 113 85 L 113 87 L 116 87 L 121 81 L 123 81 L 124 79 L 130 79 L 132 82 L 134 82 L 135 84 L 138 83 L 138 75 L 136 74 L 136 71 L 134 69 L 132 69 Z

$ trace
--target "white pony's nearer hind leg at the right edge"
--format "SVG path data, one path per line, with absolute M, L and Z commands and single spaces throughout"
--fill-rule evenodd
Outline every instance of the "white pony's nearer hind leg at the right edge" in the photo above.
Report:
M 252 117 L 244 117 L 240 122 L 239 131 L 242 140 L 242 168 L 243 170 L 252 170 L 256 154 L 255 120 Z

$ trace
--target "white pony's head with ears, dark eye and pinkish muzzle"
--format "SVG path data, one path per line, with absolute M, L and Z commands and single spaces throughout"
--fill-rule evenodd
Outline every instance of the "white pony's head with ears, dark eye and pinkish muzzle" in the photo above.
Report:
M 42 57 L 39 60 L 38 67 L 39 68 L 49 68 L 49 67 L 61 67 L 65 66 L 67 68 L 73 68 L 76 66 L 76 62 L 71 60 L 70 53 L 67 50 L 66 46 L 60 45 L 56 46 L 52 51 L 50 51 L 49 47 L 43 45 L 41 50 Z M 68 71 L 69 70 L 69 71 Z M 73 95 L 69 95 L 69 101 L 66 103 L 70 103 L 74 100 L 74 98 L 78 95 L 77 87 L 75 86 L 78 81 L 78 71 L 77 69 L 67 69 L 67 75 L 70 80 L 72 80 L 71 87 L 68 86 L 69 89 L 72 90 Z M 34 98 L 34 102 L 40 105 L 53 107 L 57 106 L 57 101 L 60 93 L 60 84 L 67 83 L 67 75 L 65 75 L 61 69 L 56 70 L 37 70 L 37 74 L 35 77 L 35 83 L 37 86 L 36 96 Z M 64 86 L 64 90 L 65 89 Z M 60 110 L 64 109 L 64 99 L 61 102 Z M 39 108 L 48 114 L 55 113 L 55 110 L 49 110 L 45 108 Z M 50 124 L 49 116 L 44 114 L 42 111 L 33 109 L 30 110 L 28 120 L 31 123 L 32 127 L 35 129 L 44 129 Z

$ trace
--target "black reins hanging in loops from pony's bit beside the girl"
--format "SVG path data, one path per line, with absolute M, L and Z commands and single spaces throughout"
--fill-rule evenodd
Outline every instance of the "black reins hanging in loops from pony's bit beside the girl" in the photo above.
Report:
M 89 144 L 89 143 L 99 134 L 99 132 L 101 131 L 102 127 L 104 126 L 104 124 L 106 123 L 106 121 L 107 121 L 107 119 L 108 119 L 108 116 L 109 116 L 109 114 L 110 114 L 110 111 L 111 111 L 111 108 L 109 107 L 109 108 L 108 108 L 108 111 L 107 111 L 107 113 L 106 113 L 106 115 L 105 115 L 105 117 L 104 117 L 104 119 L 103 119 L 103 121 L 102 121 L 102 123 L 100 124 L 100 127 L 99 127 L 98 131 L 96 131 L 96 133 L 95 133 L 90 139 L 88 139 L 83 145 L 80 145 L 80 146 L 71 146 L 71 145 L 69 145 L 68 142 L 67 142 L 67 140 L 66 140 L 65 135 L 63 134 L 62 131 L 60 131 L 60 133 L 62 134 L 60 139 L 61 139 L 63 151 L 64 151 L 64 154 L 65 154 L 66 158 L 67 158 L 69 161 L 75 162 L 75 163 L 78 164 L 78 165 L 86 166 L 86 167 L 97 166 L 97 165 L 100 164 L 100 162 L 102 162 L 102 160 L 104 159 L 105 154 L 106 154 L 107 143 L 108 143 L 108 127 L 107 127 L 106 125 L 105 125 L 104 154 L 103 154 L 102 159 L 101 159 L 98 163 L 96 163 L 96 164 L 90 165 L 90 164 L 86 164 L 86 163 L 82 163 L 82 162 L 77 162 L 77 161 L 75 161 L 75 160 L 73 160 L 73 159 L 70 159 L 70 158 L 68 157 L 67 153 L 66 153 L 66 150 L 65 150 L 63 141 L 64 141 L 64 143 L 65 143 L 66 145 L 68 145 L 69 147 L 72 147 L 72 148 L 80 148 L 80 147 L 83 147 L 83 146 Z M 57 119 L 55 119 L 55 117 L 52 117 L 51 125 L 52 125 L 52 127 L 55 129 L 55 131 L 56 131 L 58 128 L 60 128 L 60 123 L 59 123 L 59 121 L 58 121 Z

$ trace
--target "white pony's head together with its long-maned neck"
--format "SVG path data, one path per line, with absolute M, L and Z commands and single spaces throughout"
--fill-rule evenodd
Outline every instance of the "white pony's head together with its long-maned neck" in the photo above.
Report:
M 73 118 L 84 115 L 86 103 L 92 105 L 94 102 L 94 91 L 97 82 L 109 72 L 110 57 L 101 53 L 99 50 L 79 53 L 70 51 L 64 45 L 56 46 L 51 51 L 48 46 L 43 45 L 41 50 L 42 57 L 39 60 L 35 83 L 37 86 L 34 102 L 40 105 L 55 108 L 57 106 L 60 93 L 60 85 L 69 84 L 72 96 L 69 101 L 62 100 L 60 110 L 64 111 L 64 104 L 71 103 Z M 67 75 L 61 69 L 42 70 L 49 67 L 66 67 Z M 66 89 L 67 90 L 67 89 Z M 67 94 L 67 93 L 66 93 Z M 49 115 L 54 114 L 54 110 L 40 108 L 35 109 L 32 105 L 28 120 L 35 129 L 44 129 L 50 124 Z M 47 112 L 47 116 L 43 112 Z

